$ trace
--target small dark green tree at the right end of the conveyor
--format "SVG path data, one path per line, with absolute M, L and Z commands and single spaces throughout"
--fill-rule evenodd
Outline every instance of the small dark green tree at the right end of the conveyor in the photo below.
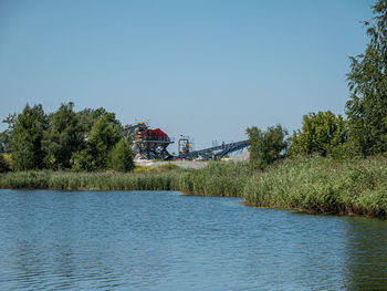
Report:
M 250 145 L 250 162 L 264 168 L 281 157 L 281 153 L 286 150 L 286 129 L 280 124 L 270 126 L 266 131 L 261 131 L 255 126 L 248 128 Z

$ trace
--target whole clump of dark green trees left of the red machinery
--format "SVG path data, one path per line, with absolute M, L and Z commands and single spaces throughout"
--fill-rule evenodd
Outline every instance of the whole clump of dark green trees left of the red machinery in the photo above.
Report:
M 105 108 L 74 112 L 74 104 L 62 104 L 45 114 L 41 104 L 27 105 L 4 121 L 0 150 L 11 150 L 11 163 L 1 156 L 0 170 L 73 169 L 119 170 L 134 168 L 133 152 L 114 113 Z M 8 167 L 8 168 L 7 168 Z

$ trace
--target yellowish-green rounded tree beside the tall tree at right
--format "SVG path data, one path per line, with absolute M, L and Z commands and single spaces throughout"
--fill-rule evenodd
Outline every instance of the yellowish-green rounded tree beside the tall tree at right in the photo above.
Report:
M 290 150 L 293 156 L 317 153 L 327 156 L 338 153 L 347 139 L 347 123 L 341 115 L 318 112 L 304 115 L 302 131 L 293 134 Z

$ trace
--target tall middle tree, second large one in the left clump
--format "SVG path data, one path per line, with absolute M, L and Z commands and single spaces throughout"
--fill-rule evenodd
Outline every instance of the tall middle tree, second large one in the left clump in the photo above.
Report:
M 62 104 L 51 116 L 51 124 L 43 141 L 45 164 L 49 168 L 70 168 L 72 155 L 79 152 L 84 143 L 83 131 L 73 106 L 73 103 Z

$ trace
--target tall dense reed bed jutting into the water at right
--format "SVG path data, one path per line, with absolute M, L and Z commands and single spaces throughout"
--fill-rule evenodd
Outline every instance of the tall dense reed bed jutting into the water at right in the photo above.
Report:
M 249 178 L 244 204 L 386 218 L 387 159 L 287 159 Z

